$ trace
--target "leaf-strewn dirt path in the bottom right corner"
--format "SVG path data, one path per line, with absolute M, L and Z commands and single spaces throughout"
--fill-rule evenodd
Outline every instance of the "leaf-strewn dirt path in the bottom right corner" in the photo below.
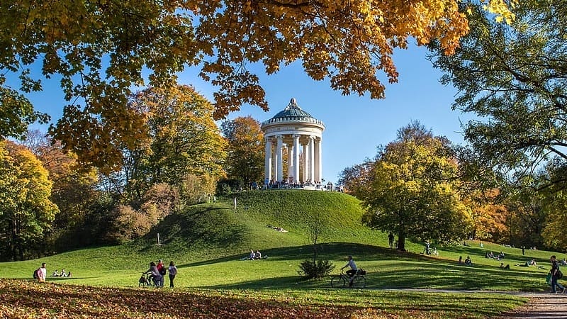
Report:
M 567 294 L 565 293 L 518 293 L 529 298 L 529 302 L 500 319 L 557 319 L 567 318 Z

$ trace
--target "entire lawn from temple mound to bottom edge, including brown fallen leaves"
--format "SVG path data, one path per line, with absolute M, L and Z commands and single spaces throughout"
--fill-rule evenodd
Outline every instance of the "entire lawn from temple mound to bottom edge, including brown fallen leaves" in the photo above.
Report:
M 45 314 L 32 318 L 51 318 L 57 307 L 69 308 L 71 317 L 79 316 L 82 309 L 87 317 L 125 318 L 142 318 L 148 311 L 164 318 L 213 318 L 221 311 L 230 312 L 223 313 L 225 318 L 347 318 L 349 314 L 353 318 L 488 318 L 526 299 L 501 293 L 384 289 L 549 290 L 544 277 L 553 252 L 527 250 L 524 256 L 520 249 L 488 242 L 483 247 L 481 242 L 437 245 L 436 257 L 420 254 L 420 242 L 408 242 L 410 252 L 398 252 L 386 248 L 386 234 L 361 225 L 359 202 L 351 196 L 324 191 L 252 191 L 236 196 L 237 209 L 232 209 L 232 198 L 192 206 L 168 216 L 147 237 L 126 245 L 2 263 L 0 317 L 37 313 L 40 310 L 26 304 L 32 305 L 30 298 L 39 295 L 40 300 L 49 297 L 43 305 Z M 333 274 L 338 274 L 345 257 L 352 254 L 368 272 L 366 289 L 331 289 L 329 279 L 305 281 L 298 276 L 298 265 L 313 258 L 306 230 L 310 216 L 315 215 L 325 216 L 320 257 L 330 259 L 337 266 Z M 157 233 L 162 239 L 159 247 Z M 261 250 L 268 259 L 241 260 L 251 249 Z M 489 250 L 504 252 L 502 262 L 511 269 L 500 269 L 500 261 L 484 258 Z M 456 263 L 459 256 L 468 255 L 473 267 Z M 532 258 L 546 269 L 515 266 Z M 176 262 L 176 288 L 138 289 L 140 273 L 157 259 Z M 47 284 L 29 281 L 41 262 L 47 263 L 48 274 L 65 268 L 73 276 L 48 277 Z M 165 284 L 169 285 L 169 279 Z M 102 296 L 112 298 L 102 300 Z M 20 310 L 12 303 L 21 304 Z

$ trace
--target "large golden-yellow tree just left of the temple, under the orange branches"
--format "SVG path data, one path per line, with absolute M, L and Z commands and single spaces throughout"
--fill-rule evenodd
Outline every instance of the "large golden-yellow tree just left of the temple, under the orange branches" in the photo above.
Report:
M 150 88 L 133 95 L 130 107 L 145 118 L 147 135 L 123 145 L 120 189 L 142 198 L 153 184 L 179 185 L 187 174 L 223 177 L 226 142 L 213 121 L 213 105 L 191 86 Z

